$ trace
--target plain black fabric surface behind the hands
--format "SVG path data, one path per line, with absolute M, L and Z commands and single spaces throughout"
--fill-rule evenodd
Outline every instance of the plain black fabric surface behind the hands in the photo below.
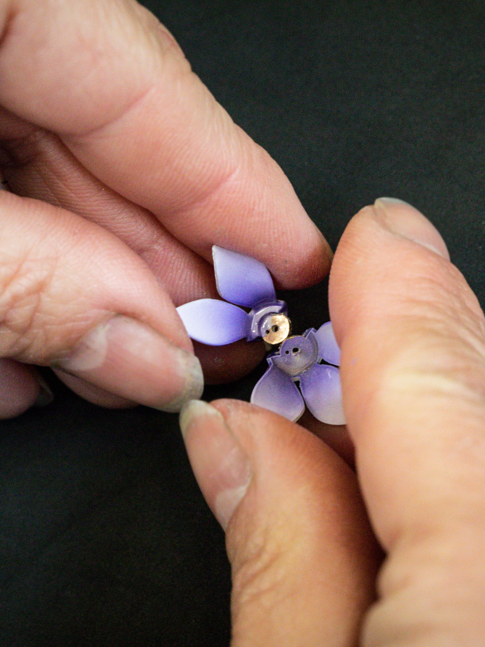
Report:
M 146 5 L 332 247 L 361 206 L 400 197 L 485 305 L 482 3 Z M 327 320 L 325 283 L 284 296 L 296 332 Z M 204 398 L 248 399 L 263 368 Z M 226 646 L 224 536 L 177 416 L 102 410 L 45 375 L 54 404 L 0 423 L 0 644 Z

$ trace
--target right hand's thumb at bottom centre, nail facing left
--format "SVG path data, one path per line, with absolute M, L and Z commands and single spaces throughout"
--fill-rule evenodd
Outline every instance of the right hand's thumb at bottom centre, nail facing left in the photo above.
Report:
M 193 400 L 180 427 L 226 530 L 232 647 L 356 644 L 380 553 L 354 472 L 312 433 L 245 402 Z

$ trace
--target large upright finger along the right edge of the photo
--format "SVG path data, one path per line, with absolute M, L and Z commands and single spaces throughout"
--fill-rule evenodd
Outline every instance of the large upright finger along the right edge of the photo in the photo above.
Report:
M 330 276 L 345 417 L 388 553 L 366 646 L 485 635 L 485 318 L 431 223 L 378 199 Z

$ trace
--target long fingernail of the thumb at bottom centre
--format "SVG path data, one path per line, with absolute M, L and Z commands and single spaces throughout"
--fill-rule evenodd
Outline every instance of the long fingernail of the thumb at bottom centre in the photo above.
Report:
M 226 531 L 251 481 L 248 457 L 222 414 L 202 400 L 184 405 L 180 430 L 202 494 Z

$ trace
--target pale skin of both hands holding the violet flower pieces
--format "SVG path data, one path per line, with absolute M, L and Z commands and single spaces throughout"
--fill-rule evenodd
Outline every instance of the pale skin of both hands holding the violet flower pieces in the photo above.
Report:
M 329 270 L 327 244 L 146 10 L 4 1 L 0 21 L 2 417 L 38 397 L 34 365 L 104 406 L 189 400 L 232 647 L 482 644 L 485 319 L 437 230 L 378 200 L 343 234 L 329 299 L 347 430 L 202 403 L 175 306 L 215 296 L 211 245 L 299 288 Z M 215 381 L 263 356 L 197 352 Z

